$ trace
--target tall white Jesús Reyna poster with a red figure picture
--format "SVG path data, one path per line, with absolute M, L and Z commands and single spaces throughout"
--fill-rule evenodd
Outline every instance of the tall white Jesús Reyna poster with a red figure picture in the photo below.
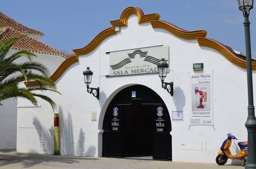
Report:
M 191 86 L 190 126 L 213 126 L 212 73 L 190 74 L 189 78 Z

